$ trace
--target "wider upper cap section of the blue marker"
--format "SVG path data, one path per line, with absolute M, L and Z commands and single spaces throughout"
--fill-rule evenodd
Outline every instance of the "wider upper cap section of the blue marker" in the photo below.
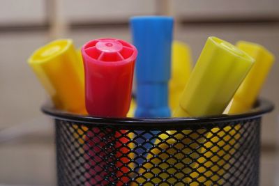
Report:
M 141 82 L 167 82 L 170 78 L 173 18 L 137 16 L 130 19 L 137 47 L 136 76 Z

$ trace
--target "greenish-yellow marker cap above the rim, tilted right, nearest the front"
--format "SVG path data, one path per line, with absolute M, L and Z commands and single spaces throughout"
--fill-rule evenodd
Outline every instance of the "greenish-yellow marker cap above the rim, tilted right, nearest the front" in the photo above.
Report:
M 209 37 L 183 90 L 179 112 L 174 112 L 174 116 L 222 114 L 253 63 L 254 59 L 241 49 Z

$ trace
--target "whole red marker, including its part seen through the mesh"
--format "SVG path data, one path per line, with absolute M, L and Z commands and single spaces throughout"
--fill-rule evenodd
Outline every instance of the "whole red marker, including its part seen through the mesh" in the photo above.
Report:
M 89 114 L 100 117 L 126 117 L 130 107 L 133 73 L 137 49 L 128 42 L 114 38 L 91 40 L 82 47 L 82 57 L 85 71 L 86 109 Z M 98 128 L 96 128 L 98 130 Z M 94 131 L 96 133 L 96 131 Z M 107 129 L 97 136 L 93 133 L 86 137 L 86 147 L 98 143 L 100 138 L 112 133 Z M 98 132 L 98 131 L 97 131 Z M 114 134 L 116 148 L 116 167 L 119 168 L 116 176 L 123 178 L 117 185 L 128 180 L 127 172 L 129 150 L 125 146 L 128 142 L 126 131 Z M 122 137 L 123 136 L 123 137 Z M 107 148 L 113 139 L 102 139 L 98 146 L 89 150 L 90 185 L 110 185 L 114 178 L 107 178 L 108 167 L 115 167 L 113 148 Z M 122 148 L 121 148 L 122 147 Z M 106 150 L 104 150 L 106 149 Z M 102 158 L 108 158 L 105 164 Z M 114 164 L 114 165 L 113 165 Z M 113 169 L 113 168 L 111 168 Z M 98 177 L 96 177 L 98 175 Z M 87 178 L 89 177 L 87 176 Z

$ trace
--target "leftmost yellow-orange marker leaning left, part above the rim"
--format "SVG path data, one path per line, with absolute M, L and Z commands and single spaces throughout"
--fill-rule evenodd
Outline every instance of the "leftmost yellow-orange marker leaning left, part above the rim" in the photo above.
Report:
M 54 40 L 40 47 L 28 63 L 57 109 L 86 114 L 83 64 L 73 40 Z

